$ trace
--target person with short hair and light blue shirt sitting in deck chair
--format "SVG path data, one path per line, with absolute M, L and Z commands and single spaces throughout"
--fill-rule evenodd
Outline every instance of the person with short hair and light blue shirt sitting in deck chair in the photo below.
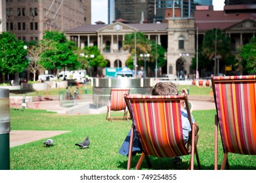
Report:
M 187 94 L 186 89 L 182 89 L 181 95 Z M 179 95 L 178 92 L 178 87 L 176 84 L 173 82 L 158 82 L 153 90 L 152 90 L 152 95 Z M 181 105 L 182 107 L 184 105 Z M 186 113 L 186 110 L 184 108 L 181 108 L 181 116 L 182 116 L 182 133 L 183 133 L 183 139 L 186 144 L 186 148 L 188 149 L 188 152 L 191 151 L 191 138 L 189 138 L 189 133 L 192 130 L 190 123 L 188 121 L 188 114 Z M 192 123 L 196 124 L 194 121 L 194 117 L 192 117 Z M 198 124 L 195 125 L 195 135 L 196 135 L 196 142 L 198 141 L 198 131 L 199 127 Z M 130 142 L 130 137 L 131 137 L 131 130 L 129 131 L 127 137 L 125 138 L 125 141 L 123 142 L 119 154 L 127 156 L 129 152 L 129 142 Z M 135 138 L 133 139 L 133 155 L 136 153 L 141 153 L 141 144 L 139 142 L 139 138 L 137 137 L 137 133 L 135 131 Z M 181 165 L 182 163 L 182 158 L 181 157 L 175 157 L 173 158 L 173 165 Z

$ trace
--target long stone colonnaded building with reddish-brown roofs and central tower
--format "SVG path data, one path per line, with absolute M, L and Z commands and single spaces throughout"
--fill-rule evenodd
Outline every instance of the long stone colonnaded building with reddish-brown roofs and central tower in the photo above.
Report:
M 125 67 L 129 52 L 120 50 L 121 41 L 125 34 L 142 32 L 149 40 L 157 40 L 165 48 L 167 64 L 158 71 L 158 76 L 195 74 L 192 69 L 192 58 L 196 58 L 196 44 L 202 44 L 203 35 L 210 29 L 219 28 L 231 39 L 233 54 L 238 54 L 238 48 L 248 43 L 256 34 L 255 6 L 226 5 L 223 11 L 205 10 L 199 8 L 194 18 L 169 17 L 167 23 L 161 24 L 114 24 L 87 25 L 66 31 L 68 39 L 77 42 L 81 48 L 84 46 L 98 46 L 104 58 L 108 60 L 108 67 Z M 246 8 L 246 10 L 245 10 Z M 150 54 L 150 53 L 149 53 Z M 118 64 L 117 64 L 118 63 Z M 214 65 L 214 62 L 213 62 Z M 143 71 L 140 67 L 137 71 Z M 154 76 L 154 71 L 146 69 L 147 76 Z M 213 67 L 212 73 L 215 68 Z M 199 71 L 200 76 L 203 71 Z M 220 68 L 220 73 L 224 73 Z M 242 69 L 235 74 L 242 74 Z M 227 73 L 228 74 L 228 73 Z

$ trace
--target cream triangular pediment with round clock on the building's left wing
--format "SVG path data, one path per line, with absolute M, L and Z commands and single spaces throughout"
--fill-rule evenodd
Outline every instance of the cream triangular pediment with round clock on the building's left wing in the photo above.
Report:
M 137 31 L 135 27 L 131 27 L 131 25 L 123 24 L 121 22 L 115 22 L 114 24 L 110 24 L 107 26 L 98 29 L 98 33 L 129 33 Z

